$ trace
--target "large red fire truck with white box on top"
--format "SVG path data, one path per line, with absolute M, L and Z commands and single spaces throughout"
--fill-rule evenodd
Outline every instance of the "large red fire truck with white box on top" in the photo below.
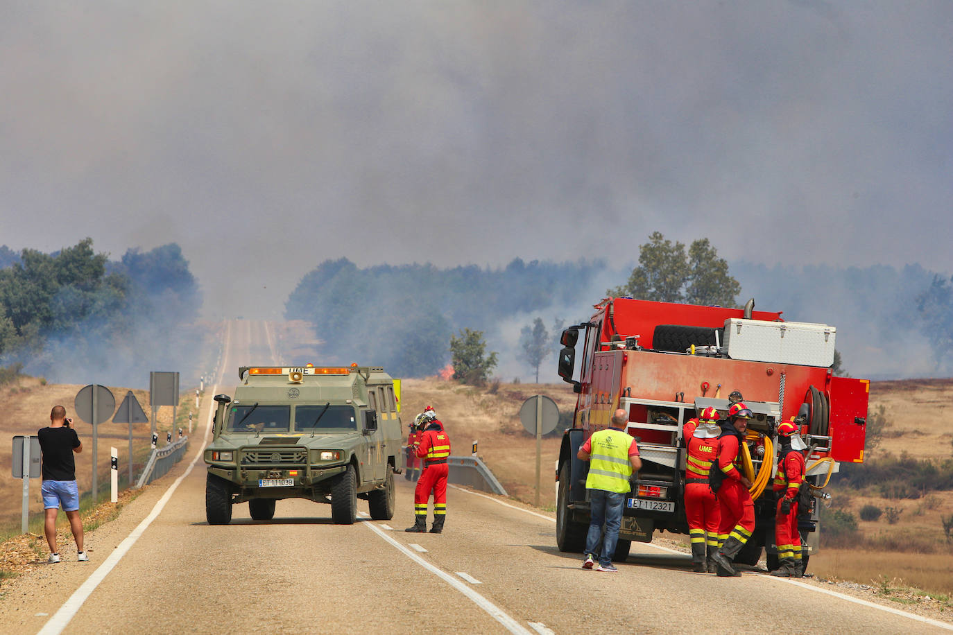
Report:
M 626 499 L 615 560 L 625 560 L 633 540 L 652 542 L 655 531 L 687 534 L 682 426 L 709 406 L 723 417 L 729 394 L 738 390 L 754 413 L 742 445 L 750 459 L 742 471 L 753 484 L 757 526 L 735 562 L 754 566 L 766 547 L 768 568 L 777 568 L 771 481 L 776 429 L 791 417 L 811 446 L 807 481 L 814 505 L 799 526 L 805 556 L 815 552 L 821 487 L 837 462 L 863 461 L 870 387 L 867 380 L 834 376 L 835 327 L 785 322 L 781 312 L 754 310 L 754 300 L 744 308 L 721 308 L 606 298 L 595 309 L 588 322 L 561 336 L 558 373 L 578 399 L 557 464 L 559 549 L 585 548 L 589 464 L 576 454 L 617 408 L 629 413 L 626 431 L 639 442 L 642 468 Z

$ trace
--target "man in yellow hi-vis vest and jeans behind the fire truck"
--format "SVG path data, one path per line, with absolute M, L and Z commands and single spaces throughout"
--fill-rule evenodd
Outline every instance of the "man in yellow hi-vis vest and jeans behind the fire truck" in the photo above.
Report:
M 639 446 L 623 431 L 629 414 L 619 408 L 612 415 L 612 425 L 594 432 L 579 446 L 580 461 L 589 461 L 586 489 L 589 493 L 589 533 L 586 535 L 586 559 L 582 568 L 591 569 L 598 558 L 597 571 L 614 573 L 612 555 L 618 543 L 618 527 L 622 524 L 622 505 L 629 493 L 629 477 L 639 471 Z M 602 524 L 605 523 L 605 532 Z M 599 543 L 601 541 L 601 550 Z

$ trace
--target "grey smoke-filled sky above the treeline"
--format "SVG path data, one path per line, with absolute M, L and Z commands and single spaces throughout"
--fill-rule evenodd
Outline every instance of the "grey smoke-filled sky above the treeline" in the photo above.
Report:
M 278 317 L 328 258 L 634 262 L 653 230 L 953 270 L 945 0 L 0 14 L 0 244 L 178 243 L 208 317 Z

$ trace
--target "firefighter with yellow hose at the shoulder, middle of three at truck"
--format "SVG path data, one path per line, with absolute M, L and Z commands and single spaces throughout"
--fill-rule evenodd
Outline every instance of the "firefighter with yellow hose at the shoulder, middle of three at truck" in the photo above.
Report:
M 738 468 L 744 431 L 750 418 L 751 410 L 744 402 L 728 408 L 728 421 L 720 423 L 718 461 L 715 464 L 718 468 L 713 467 L 709 472 L 709 481 L 718 496 L 721 512 L 720 548 L 712 558 L 717 573 L 722 577 L 741 575 L 732 566 L 732 561 L 755 530 L 755 502 L 748 491 L 751 481 Z

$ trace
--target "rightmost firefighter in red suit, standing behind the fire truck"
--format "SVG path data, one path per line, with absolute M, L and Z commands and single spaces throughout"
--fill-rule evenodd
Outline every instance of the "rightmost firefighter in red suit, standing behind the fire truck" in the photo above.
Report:
M 778 451 L 778 472 L 773 488 L 778 496 L 775 545 L 778 546 L 778 563 L 781 566 L 771 575 L 801 578 L 804 566 L 801 560 L 801 533 L 798 531 L 798 493 L 804 481 L 804 455 L 801 450 L 806 449 L 807 445 L 793 421 L 781 422 L 778 440 L 781 449 Z

